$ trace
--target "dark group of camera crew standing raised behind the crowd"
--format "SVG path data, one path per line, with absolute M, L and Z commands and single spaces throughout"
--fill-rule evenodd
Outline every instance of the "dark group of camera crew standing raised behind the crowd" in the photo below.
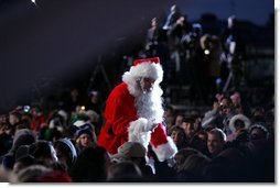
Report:
M 176 4 L 171 7 L 166 20 L 151 20 L 139 56 L 161 58 L 163 87 L 189 86 L 190 104 L 196 106 L 211 104 L 217 92 L 230 95 L 247 87 L 246 41 L 249 40 L 237 16 L 228 16 L 227 24 L 217 31 L 189 20 Z

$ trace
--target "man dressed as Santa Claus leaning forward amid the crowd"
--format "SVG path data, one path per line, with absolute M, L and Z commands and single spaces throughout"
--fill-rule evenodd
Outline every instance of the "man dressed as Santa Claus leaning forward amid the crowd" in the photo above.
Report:
M 122 82 L 109 95 L 98 145 L 114 155 L 125 142 L 151 144 L 160 162 L 169 159 L 177 148 L 163 126 L 163 69 L 159 57 L 136 59 Z

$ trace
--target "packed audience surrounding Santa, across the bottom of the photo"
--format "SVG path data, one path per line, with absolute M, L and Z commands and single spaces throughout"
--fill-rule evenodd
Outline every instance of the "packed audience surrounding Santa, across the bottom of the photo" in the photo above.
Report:
M 39 107 L 29 111 L 18 107 L 1 121 L 1 178 L 11 183 L 272 183 L 273 111 L 257 107 L 246 117 L 238 102 L 223 96 L 204 114 L 166 108 L 166 134 L 177 152 L 163 162 L 150 145 L 139 142 L 125 142 L 115 155 L 98 146 L 101 115 L 91 109 L 77 106 L 71 113 L 63 109 L 45 113 Z

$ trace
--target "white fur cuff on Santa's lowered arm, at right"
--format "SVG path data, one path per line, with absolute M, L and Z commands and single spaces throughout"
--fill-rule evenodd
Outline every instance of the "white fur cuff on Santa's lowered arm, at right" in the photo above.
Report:
M 168 136 L 165 144 L 159 145 L 158 147 L 152 146 L 152 148 L 160 162 L 169 159 L 177 153 L 177 147 L 170 136 Z

